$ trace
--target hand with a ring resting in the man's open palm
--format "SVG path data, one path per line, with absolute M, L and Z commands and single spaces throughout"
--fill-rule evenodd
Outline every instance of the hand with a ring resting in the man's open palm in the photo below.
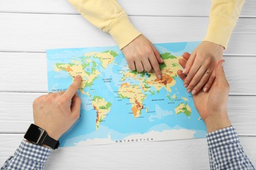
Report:
M 223 59 L 223 50 L 223 46 L 219 44 L 203 41 L 192 52 L 183 71 L 184 74 L 188 74 L 184 80 L 184 87 L 188 93 L 192 92 L 194 95 L 202 88 L 207 92 L 215 78 L 213 69 Z

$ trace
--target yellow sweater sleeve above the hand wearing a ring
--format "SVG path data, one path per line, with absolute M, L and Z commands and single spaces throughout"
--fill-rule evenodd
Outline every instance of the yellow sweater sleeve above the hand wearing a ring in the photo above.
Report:
M 244 0 L 211 0 L 209 25 L 203 41 L 226 48 L 243 5 Z

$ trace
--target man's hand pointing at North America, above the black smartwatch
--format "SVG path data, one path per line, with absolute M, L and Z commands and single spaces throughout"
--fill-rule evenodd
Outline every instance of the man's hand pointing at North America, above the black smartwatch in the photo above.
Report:
M 34 124 L 45 129 L 55 140 L 79 118 L 81 99 L 76 91 L 80 84 L 81 76 L 78 75 L 66 92 L 42 95 L 33 102 Z

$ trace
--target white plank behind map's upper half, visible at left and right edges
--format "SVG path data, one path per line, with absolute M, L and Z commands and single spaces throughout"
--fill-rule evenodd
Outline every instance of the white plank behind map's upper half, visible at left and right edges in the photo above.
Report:
M 47 92 L 45 53 L 0 52 L 0 92 Z M 256 56 L 225 56 L 231 95 L 256 95 Z M 248 74 L 249 73 L 249 74 Z

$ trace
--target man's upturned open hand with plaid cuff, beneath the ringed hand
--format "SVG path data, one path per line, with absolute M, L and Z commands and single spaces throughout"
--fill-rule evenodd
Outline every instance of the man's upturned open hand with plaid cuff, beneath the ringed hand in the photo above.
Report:
M 184 53 L 183 58 L 179 63 L 184 68 L 186 61 L 189 59 L 190 54 Z M 196 109 L 200 113 L 201 118 L 205 122 L 207 132 L 222 129 L 231 126 L 228 114 L 226 111 L 226 103 L 228 101 L 229 84 L 226 80 L 223 70 L 224 60 L 219 61 L 215 67 L 215 79 L 208 92 L 200 90 L 196 95 L 193 95 Z M 186 74 L 178 71 L 178 75 L 182 80 L 186 80 Z

